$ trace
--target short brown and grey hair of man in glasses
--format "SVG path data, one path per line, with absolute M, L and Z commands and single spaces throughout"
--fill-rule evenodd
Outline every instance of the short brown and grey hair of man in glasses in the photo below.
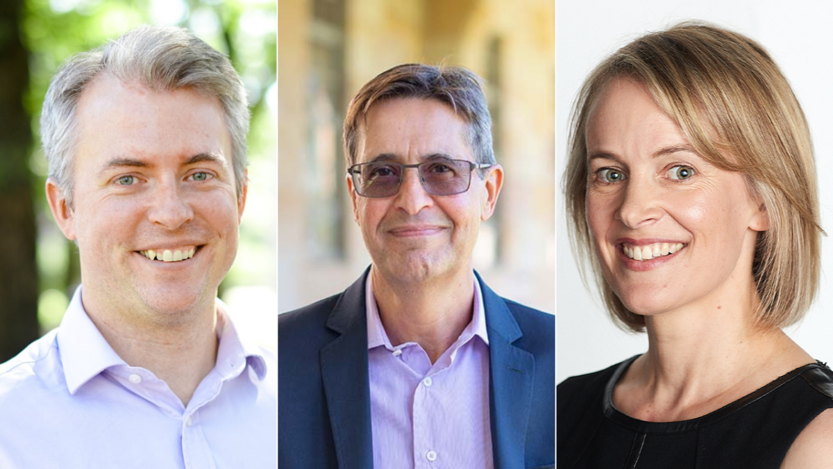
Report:
M 352 98 L 344 119 L 344 156 L 356 164 L 360 124 L 373 104 L 393 98 L 436 99 L 466 121 L 471 153 L 480 164 L 495 164 L 491 148 L 491 115 L 481 78 L 462 67 L 434 67 L 421 63 L 397 65 L 367 82 Z M 482 172 L 481 172 L 482 175 Z

